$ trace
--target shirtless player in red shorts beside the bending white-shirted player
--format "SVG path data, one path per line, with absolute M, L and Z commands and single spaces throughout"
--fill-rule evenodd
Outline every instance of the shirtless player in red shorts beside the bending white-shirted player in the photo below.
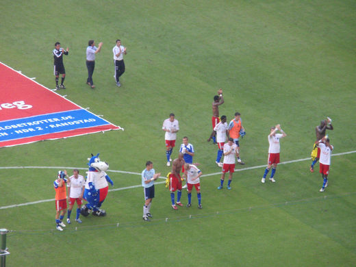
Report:
M 183 206 L 181 203 L 181 175 L 179 173 L 184 163 L 183 153 L 179 153 L 178 158 L 172 162 L 172 173 L 169 175 L 169 190 L 173 209 L 178 209 L 177 205 Z M 175 203 L 175 191 L 177 191 L 177 203 Z

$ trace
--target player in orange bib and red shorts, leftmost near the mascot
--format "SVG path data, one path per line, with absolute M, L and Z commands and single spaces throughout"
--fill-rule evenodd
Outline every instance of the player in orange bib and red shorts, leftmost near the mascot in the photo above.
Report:
M 62 227 L 66 227 L 62 222 L 66 213 L 66 170 L 58 172 L 58 179 L 53 182 L 55 190 L 55 224 L 58 231 L 63 231 Z

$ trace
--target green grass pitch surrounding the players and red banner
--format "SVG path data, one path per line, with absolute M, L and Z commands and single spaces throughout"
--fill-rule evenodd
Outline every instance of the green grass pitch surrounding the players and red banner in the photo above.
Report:
M 86 168 L 90 153 L 101 153 L 110 170 L 140 173 L 152 160 L 166 175 L 161 127 L 174 112 L 177 144 L 188 136 L 203 174 L 218 173 L 216 146 L 206 142 L 218 88 L 220 116 L 240 112 L 247 132 L 232 190 L 216 190 L 219 174 L 201 178 L 201 210 L 193 192 L 190 209 L 173 211 L 163 184 L 151 223 L 142 221 L 140 187 L 110 192 L 106 217 L 63 232 L 53 201 L 0 209 L 0 228 L 12 230 L 8 266 L 355 266 L 355 153 L 332 157 L 324 193 L 309 160 L 279 165 L 277 183 L 260 182 L 277 123 L 288 134 L 282 162 L 309 157 L 326 116 L 333 153 L 356 150 L 355 11 L 348 0 L 1 1 L 0 61 L 54 88 L 60 41 L 69 55 L 59 93 L 125 128 L 3 148 L 1 167 Z M 121 88 L 112 77 L 116 38 L 127 47 Z M 94 90 L 85 84 L 89 39 L 103 42 Z M 57 171 L 1 168 L 0 207 L 53 199 Z M 140 184 L 139 175 L 108 174 L 114 189 Z

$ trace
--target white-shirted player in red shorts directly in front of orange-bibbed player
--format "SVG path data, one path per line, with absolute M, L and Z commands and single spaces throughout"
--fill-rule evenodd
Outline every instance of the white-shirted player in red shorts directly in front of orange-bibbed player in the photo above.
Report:
M 227 172 L 230 172 L 227 189 L 231 189 L 230 184 L 233 172 L 235 171 L 235 156 L 238 156 L 238 146 L 233 142 L 233 138 L 229 138 L 229 141 L 224 144 L 223 174 L 221 175 L 220 186 L 218 187 L 218 189 L 223 189 L 225 173 Z

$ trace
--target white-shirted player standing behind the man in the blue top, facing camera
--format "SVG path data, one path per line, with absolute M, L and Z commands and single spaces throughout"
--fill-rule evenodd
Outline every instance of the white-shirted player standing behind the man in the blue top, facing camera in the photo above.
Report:
M 162 130 L 166 133 L 164 139 L 166 140 L 166 157 L 167 166 L 170 166 L 170 155 L 172 155 L 173 147 L 175 147 L 175 140 L 177 139 L 177 131 L 179 131 L 179 122 L 175 119 L 175 114 L 169 114 L 169 118 L 164 120 Z

